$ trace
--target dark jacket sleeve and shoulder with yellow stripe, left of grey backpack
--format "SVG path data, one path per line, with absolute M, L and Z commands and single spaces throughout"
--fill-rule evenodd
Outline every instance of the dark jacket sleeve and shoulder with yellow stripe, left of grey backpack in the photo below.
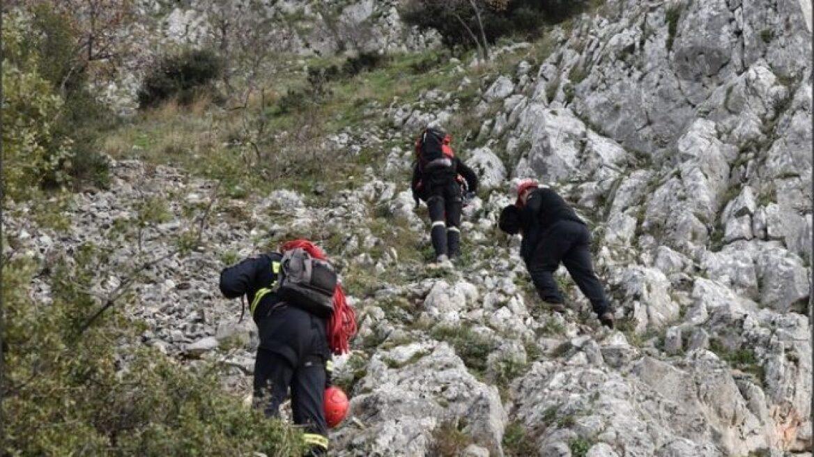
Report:
M 278 273 L 274 272 L 274 263 L 279 265 L 282 255 L 274 252 L 257 257 L 250 257 L 237 265 L 224 268 L 221 272 L 221 293 L 225 298 L 247 296 L 252 309 L 252 317 L 263 316 L 279 302 L 272 289 L 277 283 Z M 255 300 L 259 302 L 255 303 Z

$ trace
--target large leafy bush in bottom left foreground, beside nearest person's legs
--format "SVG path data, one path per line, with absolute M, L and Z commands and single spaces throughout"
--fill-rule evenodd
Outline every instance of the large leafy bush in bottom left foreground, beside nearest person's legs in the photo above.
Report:
M 53 302 L 33 300 L 32 259 L 2 270 L 7 307 L 2 455 L 300 455 L 297 432 L 221 389 L 217 366 L 187 370 L 115 308 L 82 332 L 99 306 L 87 293 L 104 253 L 85 246 L 52 266 Z M 142 329 L 144 326 L 142 325 Z

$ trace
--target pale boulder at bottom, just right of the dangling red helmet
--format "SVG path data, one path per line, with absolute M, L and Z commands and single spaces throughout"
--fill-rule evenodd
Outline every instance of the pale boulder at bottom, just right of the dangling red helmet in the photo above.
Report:
M 507 418 L 497 389 L 466 372 L 446 343 L 413 343 L 375 355 L 359 388 L 369 393 L 352 398 L 349 415 L 366 428 L 362 433 L 347 428 L 335 433 L 339 449 L 365 443 L 374 454 L 395 455 L 397 449 L 405 455 L 426 455 L 432 431 L 446 418 L 465 419 L 476 444 L 503 455 Z

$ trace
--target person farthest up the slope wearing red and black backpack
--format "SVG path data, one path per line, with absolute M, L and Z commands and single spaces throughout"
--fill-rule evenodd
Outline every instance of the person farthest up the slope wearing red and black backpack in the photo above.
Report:
M 478 191 L 478 176 L 458 159 L 452 137 L 438 128 L 425 128 L 415 141 L 416 163 L 410 188 L 427 202 L 432 222 L 432 247 L 439 263 L 461 254 L 461 209 L 464 198 Z

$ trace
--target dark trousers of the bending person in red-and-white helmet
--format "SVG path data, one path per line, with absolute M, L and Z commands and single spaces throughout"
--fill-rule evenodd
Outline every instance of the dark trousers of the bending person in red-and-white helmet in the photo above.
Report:
M 591 264 L 591 239 L 584 224 L 560 220 L 551 225 L 526 260 L 537 294 L 545 302 L 562 303 L 562 294 L 554 281 L 554 272 L 560 262 L 565 265 L 571 279 L 591 301 L 597 315 L 608 311 L 608 301 L 602 283 Z

